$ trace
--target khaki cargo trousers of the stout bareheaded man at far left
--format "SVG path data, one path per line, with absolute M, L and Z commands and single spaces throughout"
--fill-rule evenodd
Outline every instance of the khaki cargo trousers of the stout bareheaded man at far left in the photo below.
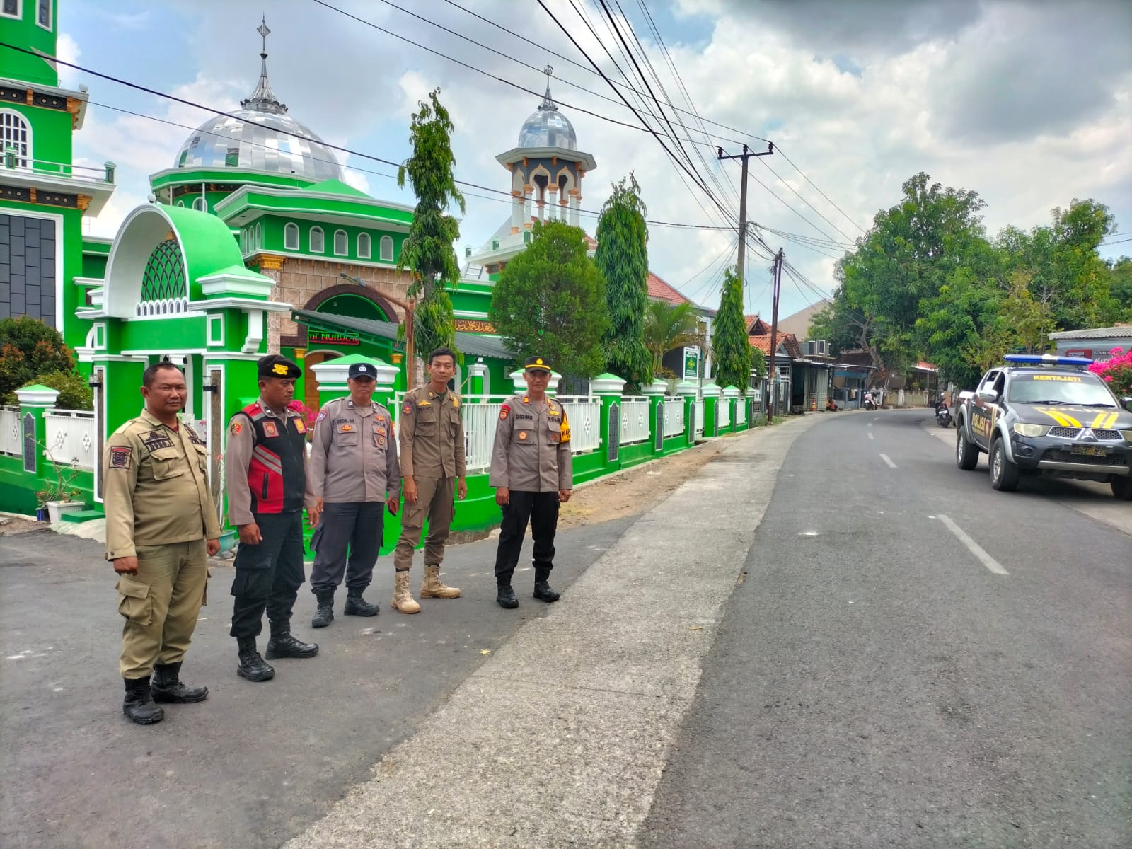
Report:
M 122 678 L 145 678 L 177 663 L 192 641 L 208 583 L 205 540 L 138 546 L 138 574 L 118 576 Z

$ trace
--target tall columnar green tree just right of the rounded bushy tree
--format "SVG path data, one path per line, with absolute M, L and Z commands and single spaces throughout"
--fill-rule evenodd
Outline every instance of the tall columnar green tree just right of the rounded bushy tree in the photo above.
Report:
M 606 369 L 635 388 L 652 381 L 653 358 L 644 342 L 649 306 L 649 228 L 641 187 L 631 173 L 614 185 L 598 220 L 593 261 L 606 280 L 609 329 L 601 340 Z

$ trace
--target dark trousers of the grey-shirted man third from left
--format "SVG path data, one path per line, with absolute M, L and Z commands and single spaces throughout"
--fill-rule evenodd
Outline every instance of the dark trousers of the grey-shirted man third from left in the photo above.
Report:
M 365 590 L 381 547 L 384 501 L 338 501 L 323 507 L 323 529 L 310 571 L 310 589 L 334 590 L 345 574 L 346 590 Z M 349 560 L 346 552 L 349 550 Z

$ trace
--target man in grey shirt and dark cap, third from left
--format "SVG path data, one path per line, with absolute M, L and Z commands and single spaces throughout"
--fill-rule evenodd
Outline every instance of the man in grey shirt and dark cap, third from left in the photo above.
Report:
M 325 628 L 334 620 L 334 590 L 346 578 L 346 616 L 377 616 L 377 604 L 362 598 L 374 576 L 381 547 L 381 511 L 397 515 L 401 466 L 389 411 L 372 400 L 376 371 L 355 362 L 346 376 L 349 397 L 323 405 L 307 475 L 308 500 L 319 513 L 315 566 L 310 589 L 318 611 L 310 625 Z M 346 561 L 346 550 L 350 559 Z

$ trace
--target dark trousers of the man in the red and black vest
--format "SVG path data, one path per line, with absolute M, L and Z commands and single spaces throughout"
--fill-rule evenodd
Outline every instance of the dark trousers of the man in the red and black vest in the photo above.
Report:
M 294 600 L 306 578 L 302 569 L 302 513 L 254 515 L 263 541 L 245 542 L 235 551 L 232 581 L 232 631 L 234 637 L 259 636 L 264 610 L 272 625 L 291 621 Z

